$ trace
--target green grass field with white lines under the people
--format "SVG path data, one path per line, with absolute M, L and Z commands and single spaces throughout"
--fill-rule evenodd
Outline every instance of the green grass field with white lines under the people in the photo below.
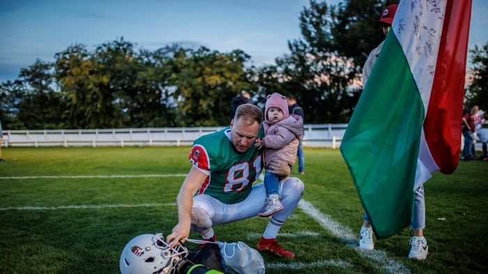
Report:
M 0 273 L 118 273 L 132 237 L 167 235 L 176 224 L 189 150 L 3 149 Z M 264 254 L 266 273 L 488 272 L 487 162 L 461 162 L 453 175 L 437 172 L 425 184 L 429 256 L 411 261 L 409 229 L 375 241 L 374 252 L 356 247 L 363 211 L 338 150 L 306 149 L 305 160 L 303 200 L 278 235 L 296 259 Z M 214 229 L 222 241 L 255 247 L 266 224 L 256 217 Z

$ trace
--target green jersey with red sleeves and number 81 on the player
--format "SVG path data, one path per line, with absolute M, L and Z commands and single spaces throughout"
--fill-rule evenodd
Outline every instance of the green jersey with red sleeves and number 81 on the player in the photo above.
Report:
M 258 137 L 263 136 L 261 127 Z M 196 195 L 210 195 L 225 204 L 247 198 L 263 168 L 262 150 L 252 145 L 246 152 L 238 152 L 232 144 L 229 127 L 195 140 L 188 159 L 208 175 Z

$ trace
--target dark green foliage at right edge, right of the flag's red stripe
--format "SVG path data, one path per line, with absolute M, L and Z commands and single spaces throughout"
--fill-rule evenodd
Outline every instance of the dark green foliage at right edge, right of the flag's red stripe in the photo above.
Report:
M 466 90 L 466 106 L 479 104 L 480 109 L 488 110 L 488 42 L 470 50 L 472 67 L 472 83 Z

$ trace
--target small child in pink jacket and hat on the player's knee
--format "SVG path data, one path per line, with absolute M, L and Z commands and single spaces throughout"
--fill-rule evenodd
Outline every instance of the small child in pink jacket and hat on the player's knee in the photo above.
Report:
M 268 170 L 271 161 L 286 161 L 295 164 L 298 142 L 303 137 L 303 120 L 300 115 L 288 114 L 287 97 L 280 93 L 268 95 L 264 111 L 264 138 L 257 140 L 254 147 L 265 147 L 264 166 Z M 264 175 L 266 202 L 258 215 L 268 217 L 283 209 L 280 202 L 278 177 L 267 172 Z

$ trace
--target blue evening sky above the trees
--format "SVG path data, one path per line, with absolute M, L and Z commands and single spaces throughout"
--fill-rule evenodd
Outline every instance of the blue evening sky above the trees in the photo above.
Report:
M 329 0 L 338 3 L 340 0 Z M 301 38 L 308 0 L 0 0 L 0 82 L 76 43 L 93 50 L 123 37 L 138 48 L 172 43 L 242 49 L 252 65 L 273 64 Z M 468 47 L 488 42 L 488 1 L 473 0 Z

